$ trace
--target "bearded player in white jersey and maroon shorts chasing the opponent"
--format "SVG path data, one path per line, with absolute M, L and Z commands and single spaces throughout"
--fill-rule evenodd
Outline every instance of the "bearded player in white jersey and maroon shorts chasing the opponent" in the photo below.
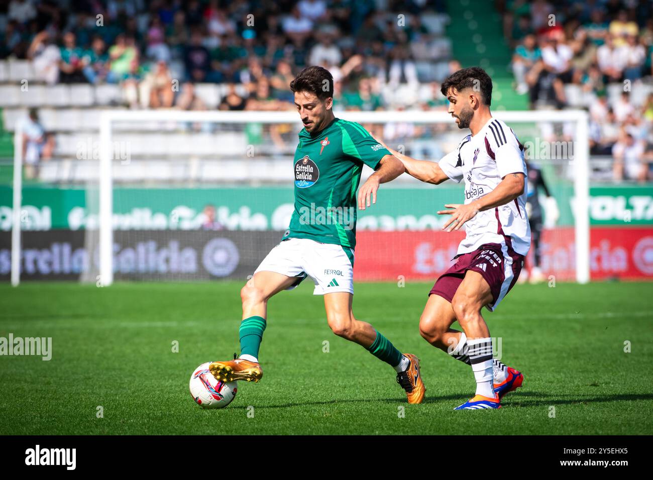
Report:
M 490 311 L 515 285 L 530 247 L 526 216 L 524 149 L 503 121 L 492 117 L 492 80 L 483 69 L 462 69 L 441 86 L 458 128 L 470 129 L 454 152 L 438 163 L 415 160 L 390 149 L 406 172 L 430 184 L 465 182 L 462 204 L 447 204 L 443 229 L 464 228 L 456 263 L 430 291 L 419 321 L 424 339 L 467 364 L 476 394 L 456 409 L 500 408 L 503 395 L 524 376 L 492 359 L 490 331 L 481 308 Z M 458 321 L 464 332 L 453 330 Z

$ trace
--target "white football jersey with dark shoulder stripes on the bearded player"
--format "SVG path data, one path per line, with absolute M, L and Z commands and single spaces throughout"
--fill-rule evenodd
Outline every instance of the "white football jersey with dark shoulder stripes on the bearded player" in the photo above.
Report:
M 524 147 L 513 129 L 490 118 L 476 135 L 468 135 L 458 148 L 439 161 L 443 172 L 454 182 L 465 179 L 465 204 L 487 195 L 508 174 L 524 174 L 524 193 L 496 208 L 479 212 L 464 224 L 467 236 L 458 254 L 483 244 L 502 244 L 520 255 L 530 248 L 530 225 L 526 216 L 526 163 Z

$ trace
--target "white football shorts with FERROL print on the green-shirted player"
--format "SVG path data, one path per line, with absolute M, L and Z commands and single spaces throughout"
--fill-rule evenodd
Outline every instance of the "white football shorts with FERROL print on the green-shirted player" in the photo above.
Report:
M 310 238 L 289 238 L 270 250 L 254 272 L 276 272 L 297 281 L 307 276 L 315 283 L 313 295 L 335 292 L 354 293 L 354 251 L 349 247 L 323 244 Z

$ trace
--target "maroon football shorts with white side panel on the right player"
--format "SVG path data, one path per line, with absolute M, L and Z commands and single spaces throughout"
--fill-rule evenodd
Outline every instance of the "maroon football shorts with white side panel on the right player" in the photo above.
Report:
M 455 257 L 456 263 L 444 272 L 428 295 L 439 295 L 451 303 L 456 290 L 465 278 L 467 270 L 479 272 L 490 285 L 492 303 L 487 307 L 490 312 L 503 300 L 513 288 L 519 272 L 524 266 L 524 255 L 519 255 L 509 246 L 502 244 L 483 244 L 469 253 Z

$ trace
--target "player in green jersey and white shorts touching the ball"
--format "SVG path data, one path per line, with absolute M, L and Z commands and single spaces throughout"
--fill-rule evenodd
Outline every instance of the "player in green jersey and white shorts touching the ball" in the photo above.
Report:
M 357 203 L 360 210 L 374 204 L 379 185 L 402 174 L 404 165 L 358 123 L 335 118 L 330 72 L 308 67 L 290 88 L 304 124 L 293 162 L 295 211 L 281 242 L 240 291 L 240 357 L 212 362 L 211 373 L 221 381 L 259 381 L 268 299 L 310 277 L 314 295 L 324 296 L 331 330 L 390 364 L 408 402 L 419 404 L 424 383 L 417 357 L 402 355 L 372 325 L 356 319 L 351 308 Z M 357 197 L 363 165 L 375 172 Z

